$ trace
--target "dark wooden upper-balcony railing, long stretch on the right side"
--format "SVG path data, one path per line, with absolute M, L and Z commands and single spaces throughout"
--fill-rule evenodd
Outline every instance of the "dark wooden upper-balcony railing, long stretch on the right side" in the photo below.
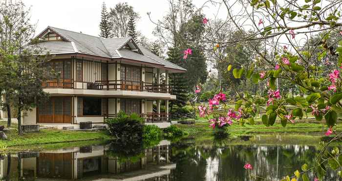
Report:
M 166 84 L 154 84 L 144 81 L 127 81 L 127 80 L 101 80 L 95 83 L 88 83 L 88 89 L 97 90 L 121 90 L 121 91 L 145 91 L 168 93 Z

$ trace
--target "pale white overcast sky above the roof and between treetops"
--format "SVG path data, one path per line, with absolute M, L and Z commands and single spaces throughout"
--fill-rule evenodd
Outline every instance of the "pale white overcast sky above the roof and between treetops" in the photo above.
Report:
M 99 35 L 103 1 L 108 9 L 118 2 L 128 2 L 141 16 L 136 28 L 152 40 L 155 40 L 152 35 L 155 25 L 146 13 L 151 12 L 151 17 L 156 21 L 161 20 L 169 9 L 167 0 L 23 0 L 26 6 L 31 7 L 31 21 L 37 23 L 37 33 L 50 25 L 94 36 Z M 201 7 L 205 1 L 193 0 L 193 3 Z M 204 13 L 208 18 L 214 17 L 218 9 L 218 6 L 211 6 L 210 9 L 204 8 Z M 222 18 L 225 19 L 224 9 L 221 9 Z

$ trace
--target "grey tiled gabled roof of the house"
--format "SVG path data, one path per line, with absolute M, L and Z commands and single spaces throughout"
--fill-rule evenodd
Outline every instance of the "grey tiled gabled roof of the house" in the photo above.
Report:
M 44 53 L 81 53 L 111 59 L 125 58 L 139 63 L 155 64 L 158 66 L 164 66 L 165 68 L 186 71 L 186 69 L 156 56 L 150 52 L 149 49 L 139 47 L 134 43 L 131 37 L 106 39 L 51 26 L 45 28 L 38 37 L 46 31 L 52 31 L 59 34 L 64 41 L 40 42 L 38 45 L 45 49 Z M 125 45 L 128 45 L 130 48 Z M 135 50 L 133 51 L 131 49 Z

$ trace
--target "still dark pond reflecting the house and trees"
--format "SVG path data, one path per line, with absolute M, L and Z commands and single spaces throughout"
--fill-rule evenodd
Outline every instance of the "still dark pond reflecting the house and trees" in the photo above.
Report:
M 0 177 L 7 181 L 276 181 L 304 163 L 313 163 L 318 145 L 308 140 L 315 138 L 320 140 L 267 135 L 214 141 L 210 136 L 188 136 L 149 148 L 110 143 L 20 152 L 0 159 Z M 253 177 L 243 169 L 246 162 L 254 167 Z M 335 172 L 328 170 L 327 175 L 325 181 L 339 180 Z

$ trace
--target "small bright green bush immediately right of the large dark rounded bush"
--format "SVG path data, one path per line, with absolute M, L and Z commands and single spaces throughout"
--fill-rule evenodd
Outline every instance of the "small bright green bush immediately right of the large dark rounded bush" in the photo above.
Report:
M 145 147 L 150 147 L 158 144 L 163 136 L 162 130 L 156 125 L 145 125 L 143 132 Z

